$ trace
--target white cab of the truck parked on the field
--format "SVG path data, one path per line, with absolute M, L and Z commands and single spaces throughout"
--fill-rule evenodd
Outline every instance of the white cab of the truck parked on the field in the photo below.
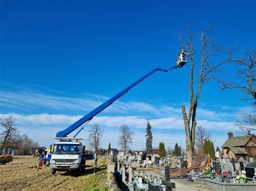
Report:
M 85 146 L 80 143 L 82 138 L 56 138 L 59 142 L 53 144 L 50 160 L 52 174 L 56 171 L 85 170 Z

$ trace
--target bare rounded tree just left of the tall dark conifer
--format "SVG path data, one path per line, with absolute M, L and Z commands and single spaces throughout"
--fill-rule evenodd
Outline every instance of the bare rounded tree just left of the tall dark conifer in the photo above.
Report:
M 133 134 L 134 133 L 130 130 L 130 128 L 126 124 L 120 126 L 118 144 L 124 150 L 124 153 L 126 153 L 126 151 L 129 150 L 130 145 L 132 144 Z

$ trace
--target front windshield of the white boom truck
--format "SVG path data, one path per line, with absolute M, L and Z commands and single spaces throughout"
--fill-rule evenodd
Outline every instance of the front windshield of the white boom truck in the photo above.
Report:
M 76 144 L 55 144 L 53 154 L 78 154 L 79 145 Z

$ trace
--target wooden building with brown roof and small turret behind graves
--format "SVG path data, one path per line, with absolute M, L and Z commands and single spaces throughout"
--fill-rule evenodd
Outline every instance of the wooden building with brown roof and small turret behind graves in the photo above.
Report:
M 233 133 L 227 133 L 228 139 L 221 146 L 223 147 L 223 157 L 239 160 L 242 157 L 245 161 L 250 158 L 256 159 L 256 137 L 255 135 L 245 135 L 233 137 Z

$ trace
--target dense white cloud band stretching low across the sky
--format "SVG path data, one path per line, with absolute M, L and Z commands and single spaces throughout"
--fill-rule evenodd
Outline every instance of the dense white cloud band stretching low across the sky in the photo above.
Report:
M 55 115 L 55 114 L 0 114 L 4 118 L 8 115 L 15 117 L 18 124 L 22 126 L 69 126 L 78 121 L 83 116 Z M 144 129 L 147 122 L 150 122 L 154 129 L 184 129 L 183 119 L 181 118 L 155 118 L 147 120 L 136 116 L 103 116 L 94 117 L 90 123 L 99 123 L 108 128 L 117 128 L 120 125 L 127 124 L 136 129 Z M 204 126 L 208 130 L 227 131 L 228 129 L 237 129 L 232 122 L 215 122 L 207 120 L 197 121 L 198 125 Z

